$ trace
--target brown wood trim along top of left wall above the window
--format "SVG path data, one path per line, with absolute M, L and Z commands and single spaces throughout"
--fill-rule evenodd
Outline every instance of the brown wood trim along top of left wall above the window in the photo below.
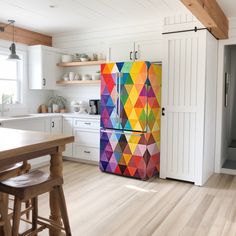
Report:
M 4 26 L 4 23 L 0 23 L 1 26 Z M 4 32 L 0 32 L 0 39 L 12 41 L 13 35 L 13 26 L 9 25 L 5 28 Z M 52 36 L 45 34 L 40 34 L 23 28 L 15 26 L 15 42 L 23 43 L 27 45 L 45 45 L 52 46 Z

